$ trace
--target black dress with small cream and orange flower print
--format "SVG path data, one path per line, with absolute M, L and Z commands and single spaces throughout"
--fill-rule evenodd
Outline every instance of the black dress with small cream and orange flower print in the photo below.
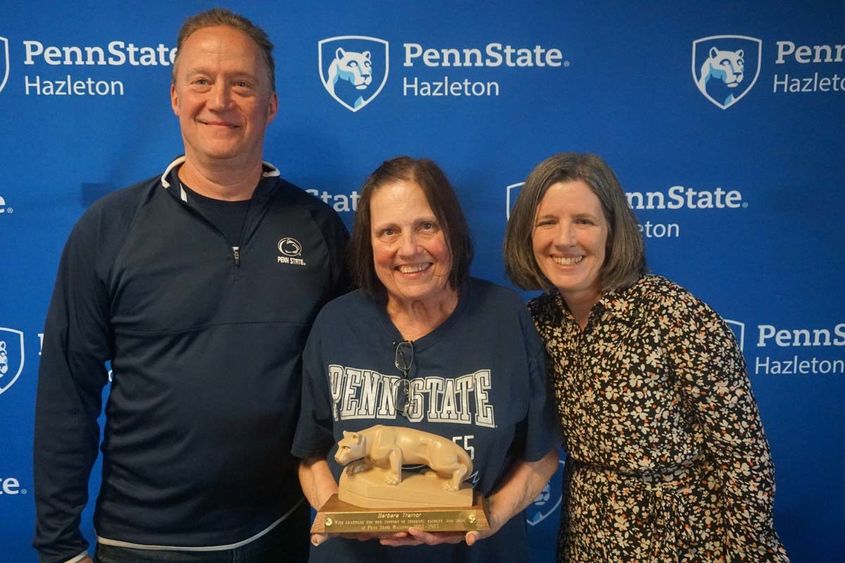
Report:
M 678 285 L 604 294 L 582 331 L 529 303 L 569 454 L 559 560 L 788 561 L 774 471 L 733 334 Z

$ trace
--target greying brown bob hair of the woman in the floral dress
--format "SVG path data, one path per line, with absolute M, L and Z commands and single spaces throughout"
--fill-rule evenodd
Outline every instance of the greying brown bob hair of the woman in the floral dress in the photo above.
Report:
M 534 258 L 534 220 L 549 187 L 573 180 L 583 181 L 596 194 L 608 224 L 605 261 L 599 273 L 602 291 L 633 285 L 646 273 L 639 225 L 613 170 L 601 157 L 589 153 L 552 155 L 528 175 L 505 230 L 505 272 L 523 289 L 554 287 Z

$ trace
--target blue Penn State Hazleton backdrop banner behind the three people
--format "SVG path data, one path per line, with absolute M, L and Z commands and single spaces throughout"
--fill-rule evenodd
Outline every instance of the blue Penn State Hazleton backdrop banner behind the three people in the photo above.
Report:
M 0 560 L 35 559 L 34 397 L 62 246 L 92 201 L 180 154 L 169 101 L 176 33 L 208 7 L 0 3 Z M 276 45 L 280 111 L 266 159 L 351 224 L 382 160 L 433 158 L 458 190 L 480 277 L 507 283 L 504 225 L 536 163 L 558 151 L 605 157 L 651 269 L 736 332 L 793 560 L 842 560 L 845 3 L 227 7 Z M 337 72 L 341 52 L 369 58 L 369 83 Z M 529 510 L 537 561 L 553 561 L 559 481 Z M 92 490 L 98 483 L 95 470 Z

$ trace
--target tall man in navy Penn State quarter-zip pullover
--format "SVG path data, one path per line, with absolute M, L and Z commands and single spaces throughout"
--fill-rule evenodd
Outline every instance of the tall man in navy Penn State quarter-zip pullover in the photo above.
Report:
M 171 86 L 185 155 L 94 204 L 62 255 L 38 383 L 42 561 L 90 561 L 79 531 L 113 381 L 97 497 L 102 561 L 302 561 L 291 439 L 300 350 L 346 286 L 347 233 L 262 163 L 272 44 L 215 9 L 182 27 Z

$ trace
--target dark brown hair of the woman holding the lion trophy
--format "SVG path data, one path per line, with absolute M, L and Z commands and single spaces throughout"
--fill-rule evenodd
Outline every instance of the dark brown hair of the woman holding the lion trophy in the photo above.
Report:
M 349 269 L 355 283 L 374 297 L 384 295 L 384 286 L 378 279 L 373 265 L 370 202 L 373 193 L 380 187 L 401 180 L 416 183 L 425 194 L 426 201 L 443 230 L 452 257 L 449 285 L 452 289 L 458 289 L 469 275 L 469 265 L 472 262 L 473 249 L 469 226 L 455 190 L 443 170 L 432 160 L 414 159 L 409 156 L 384 161 L 370 174 L 361 189 L 348 247 Z

